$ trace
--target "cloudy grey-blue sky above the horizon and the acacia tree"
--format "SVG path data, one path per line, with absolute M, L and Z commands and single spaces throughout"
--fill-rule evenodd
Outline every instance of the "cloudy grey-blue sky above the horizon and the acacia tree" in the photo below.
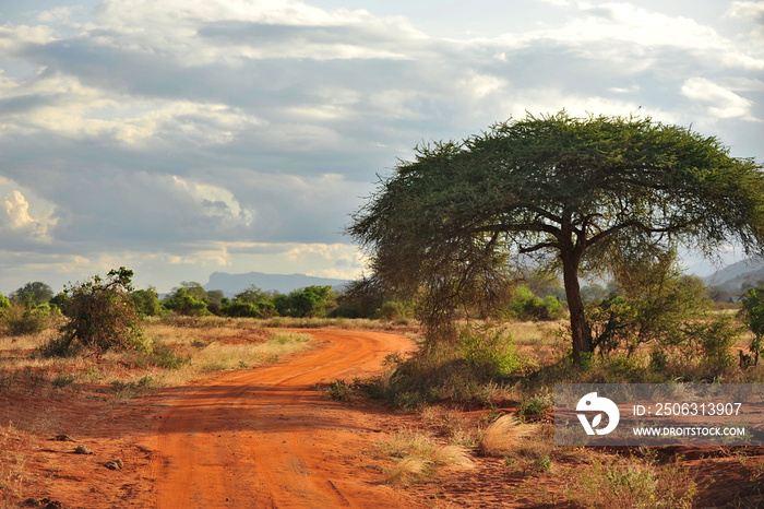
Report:
M 354 277 L 414 145 L 566 108 L 764 161 L 764 2 L 0 0 L 0 292 Z

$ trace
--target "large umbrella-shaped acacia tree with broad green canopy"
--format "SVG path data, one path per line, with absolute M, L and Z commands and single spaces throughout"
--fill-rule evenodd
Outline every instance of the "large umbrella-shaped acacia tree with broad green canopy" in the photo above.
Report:
M 369 284 L 419 292 L 434 336 L 453 331 L 442 324 L 455 305 L 502 295 L 508 261 L 556 262 L 580 362 L 593 351 L 582 272 L 624 242 L 764 251 L 764 175 L 717 139 L 650 118 L 528 115 L 417 147 L 347 230 L 368 250 Z

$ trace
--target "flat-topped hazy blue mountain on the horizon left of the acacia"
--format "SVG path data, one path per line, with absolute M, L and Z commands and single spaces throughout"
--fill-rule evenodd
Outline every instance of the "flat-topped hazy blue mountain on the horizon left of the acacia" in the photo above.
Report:
M 226 272 L 213 272 L 204 289 L 222 289 L 226 296 L 234 296 L 239 292 L 254 285 L 260 289 L 276 291 L 288 294 L 293 289 L 306 286 L 332 286 L 335 291 L 342 289 L 349 280 L 335 280 L 331 277 L 314 277 L 305 274 L 265 274 L 263 272 L 248 272 L 246 274 L 228 274 Z

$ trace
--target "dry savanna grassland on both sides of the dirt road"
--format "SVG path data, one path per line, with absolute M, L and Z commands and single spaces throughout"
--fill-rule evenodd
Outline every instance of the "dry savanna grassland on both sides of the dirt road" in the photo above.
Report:
M 275 362 L 288 366 L 295 355 L 322 347 L 310 340 L 311 331 L 332 329 L 384 330 L 411 339 L 414 350 L 387 355 L 378 374 L 324 380 L 311 389 L 321 405 L 336 412 L 324 415 L 325 421 L 360 418 L 373 428 L 354 435 L 360 441 L 344 464 L 355 465 L 369 483 L 392 488 L 384 492 L 391 507 L 762 504 L 761 448 L 553 445 L 554 382 L 669 377 L 760 382 L 764 367 L 743 369 L 732 362 L 750 344 L 745 334 L 730 345 L 727 364 L 717 359 L 708 366 L 708 355 L 716 354 L 704 357 L 702 351 L 694 358 L 668 352 L 660 364 L 648 348 L 637 348 L 631 355 L 594 357 L 581 368 L 566 360 L 563 322 L 462 324 L 456 348 L 430 348 L 428 355 L 414 347 L 420 332 L 413 320 L 166 317 L 145 322 L 148 347 L 141 351 L 64 357 L 40 354 L 58 333 L 55 327 L 4 336 L 0 504 L 17 507 L 33 497 L 67 507 L 151 505 L 147 472 L 156 451 L 140 435 L 147 433 L 142 431 L 145 423 L 205 384 L 202 380 L 256 371 Z M 79 446 L 94 454 L 73 453 Z M 120 470 L 104 466 L 117 459 L 123 463 Z

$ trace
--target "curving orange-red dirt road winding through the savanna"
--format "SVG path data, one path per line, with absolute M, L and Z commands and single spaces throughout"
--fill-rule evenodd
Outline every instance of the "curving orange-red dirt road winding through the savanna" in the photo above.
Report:
M 176 401 L 152 433 L 157 508 L 411 507 L 374 482 L 358 451 L 363 413 L 314 384 L 381 371 L 396 334 L 317 330 L 317 347 L 244 375 L 210 379 Z M 339 422 L 338 422 L 339 421 Z

